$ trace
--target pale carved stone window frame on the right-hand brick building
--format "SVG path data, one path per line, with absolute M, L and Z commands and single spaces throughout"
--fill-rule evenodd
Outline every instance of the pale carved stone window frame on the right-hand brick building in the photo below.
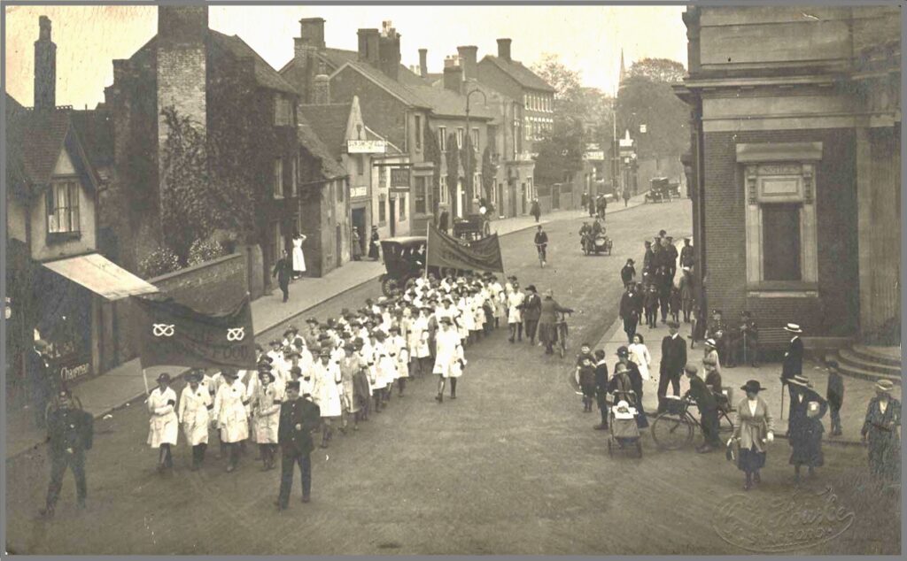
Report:
M 736 144 L 736 171 L 740 178 L 737 185 L 742 186 L 745 196 L 747 295 L 818 297 L 815 189 L 822 149 L 822 142 Z M 774 203 L 799 205 L 801 278 L 798 281 L 764 280 L 762 208 Z

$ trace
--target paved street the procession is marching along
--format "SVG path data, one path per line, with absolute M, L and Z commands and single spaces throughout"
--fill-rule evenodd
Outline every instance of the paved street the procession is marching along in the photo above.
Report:
M 578 213 L 579 216 L 579 213 Z M 596 342 L 616 315 L 619 268 L 641 257 L 659 228 L 682 236 L 687 202 L 646 206 L 609 218 L 613 256 L 582 256 L 581 219 L 546 227 L 550 264 L 541 270 L 532 232 L 502 240 L 504 263 L 522 285 L 553 287 L 581 314 L 571 343 Z M 311 314 L 327 317 L 378 295 L 377 282 L 341 295 Z M 309 315 L 308 313 L 306 315 Z M 268 334 L 265 334 L 267 339 Z M 608 349 L 610 358 L 614 349 Z M 227 474 L 215 459 L 200 472 L 176 449 L 173 477 L 157 475 L 144 445 L 141 403 L 99 421 L 89 463 L 89 507 L 73 508 L 67 479 L 53 522 L 35 518 L 46 488 L 44 450 L 7 462 L 7 549 L 34 554 L 741 554 L 712 527 L 719 502 L 736 494 L 739 472 L 719 455 L 658 453 L 643 437 L 641 460 L 607 455 L 568 385 L 571 360 L 511 344 L 501 329 L 466 350 L 470 361 L 456 401 L 434 401 L 434 379 L 410 384 L 402 400 L 331 449 L 313 455 L 313 502 L 273 507 L 278 474 L 254 457 Z M 180 437 L 181 438 L 181 437 Z M 787 445 L 775 444 L 763 497 L 791 495 Z M 826 450 L 819 484 L 856 510 L 853 527 L 824 553 L 897 553 L 900 498 L 853 486 L 863 450 Z M 298 483 L 298 482 L 297 482 Z M 895 504 L 894 498 L 897 498 Z M 881 514 L 880 514 L 881 513 Z M 873 530 L 873 531 L 871 531 Z M 881 538 L 879 538 L 881 536 Z M 823 549 L 827 547 L 828 549 Z

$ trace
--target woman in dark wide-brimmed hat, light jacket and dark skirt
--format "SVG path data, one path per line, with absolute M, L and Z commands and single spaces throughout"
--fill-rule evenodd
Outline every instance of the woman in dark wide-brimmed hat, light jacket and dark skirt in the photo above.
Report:
M 775 420 L 766 401 L 759 397 L 765 388 L 757 380 L 746 382 L 740 389 L 746 392 L 746 397 L 737 403 L 734 436 L 727 440 L 727 445 L 733 440 L 740 445 L 737 468 L 746 473 L 744 490 L 748 491 L 762 480 L 759 469 L 766 465 L 766 444 L 775 440 Z

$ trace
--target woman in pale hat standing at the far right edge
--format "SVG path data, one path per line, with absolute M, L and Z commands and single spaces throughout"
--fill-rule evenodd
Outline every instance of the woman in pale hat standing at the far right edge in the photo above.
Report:
M 863 442 L 869 442 L 869 469 L 883 479 L 901 479 L 901 401 L 892 397 L 894 384 L 880 380 L 863 421 Z

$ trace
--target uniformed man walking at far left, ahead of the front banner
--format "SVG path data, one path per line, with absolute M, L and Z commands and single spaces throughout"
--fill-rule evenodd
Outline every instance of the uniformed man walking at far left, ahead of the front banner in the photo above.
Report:
M 73 470 L 75 496 L 78 508 L 85 508 L 85 451 L 92 450 L 94 419 L 73 401 L 73 394 L 60 390 L 56 400 L 47 410 L 47 441 L 50 443 L 51 483 L 47 488 L 43 517 L 53 517 L 63 475 L 66 468 Z

